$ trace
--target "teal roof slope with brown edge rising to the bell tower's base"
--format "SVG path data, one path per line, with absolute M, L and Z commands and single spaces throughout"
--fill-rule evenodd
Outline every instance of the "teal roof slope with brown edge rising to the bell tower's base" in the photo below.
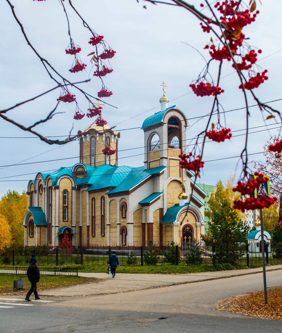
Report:
M 151 174 L 160 173 L 166 166 L 156 166 L 151 169 L 144 169 L 144 166 L 133 167 L 125 180 L 117 187 L 111 189 L 106 194 L 129 191 Z

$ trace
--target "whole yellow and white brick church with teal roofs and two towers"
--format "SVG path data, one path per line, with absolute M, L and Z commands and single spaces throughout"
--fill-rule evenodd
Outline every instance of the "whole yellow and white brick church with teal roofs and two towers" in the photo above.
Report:
M 200 241 L 207 194 L 179 166 L 189 124 L 164 93 L 163 82 L 160 111 L 141 127 L 143 166 L 118 166 L 120 132 L 92 124 L 77 134 L 79 163 L 29 181 L 24 246 L 60 247 L 65 234 L 80 248 Z

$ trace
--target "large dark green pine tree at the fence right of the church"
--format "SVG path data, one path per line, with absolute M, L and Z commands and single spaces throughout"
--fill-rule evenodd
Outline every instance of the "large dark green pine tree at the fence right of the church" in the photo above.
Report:
M 234 263 L 242 249 L 240 243 L 246 242 L 250 227 L 239 219 L 227 199 L 222 201 L 219 209 L 211 211 L 208 226 L 210 237 L 216 245 L 217 262 Z

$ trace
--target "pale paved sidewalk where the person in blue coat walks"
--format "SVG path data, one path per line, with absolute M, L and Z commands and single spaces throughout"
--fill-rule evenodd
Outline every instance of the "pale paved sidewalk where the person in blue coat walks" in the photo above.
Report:
M 267 266 L 267 271 L 282 269 L 282 265 Z M 46 296 L 86 296 L 116 294 L 127 291 L 170 286 L 177 283 L 193 283 L 206 280 L 222 279 L 238 275 L 261 273 L 262 267 L 216 272 L 186 274 L 129 274 L 119 273 L 116 277 L 106 273 L 78 273 L 80 276 L 96 277 L 97 282 L 84 283 L 66 288 L 56 288 L 42 292 Z

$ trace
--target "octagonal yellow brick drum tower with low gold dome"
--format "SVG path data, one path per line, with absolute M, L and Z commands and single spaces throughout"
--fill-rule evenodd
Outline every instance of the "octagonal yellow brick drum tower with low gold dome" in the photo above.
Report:
M 78 131 L 79 162 L 88 166 L 101 166 L 103 164 L 118 165 L 118 142 L 120 132 L 114 132 L 108 125 L 89 125 L 83 132 Z M 104 155 L 102 150 L 106 147 L 117 150 L 113 155 Z

